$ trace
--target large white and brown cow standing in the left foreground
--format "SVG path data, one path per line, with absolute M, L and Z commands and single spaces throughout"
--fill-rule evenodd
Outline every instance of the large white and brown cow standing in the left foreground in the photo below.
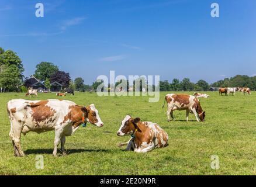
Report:
M 21 134 L 29 131 L 43 133 L 55 131 L 53 155 L 57 156 L 57 147 L 61 142 L 61 152 L 65 155 L 65 137 L 71 136 L 80 126 L 87 122 L 97 127 L 103 123 L 94 104 L 87 107 L 76 105 L 71 101 L 49 99 L 44 101 L 26 101 L 13 99 L 7 104 L 11 122 L 11 137 L 15 156 L 25 154 L 20 146 Z

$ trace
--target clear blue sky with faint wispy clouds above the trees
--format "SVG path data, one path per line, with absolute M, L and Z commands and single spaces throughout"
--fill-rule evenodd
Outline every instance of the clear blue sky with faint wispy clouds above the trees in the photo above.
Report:
M 50 61 L 86 84 L 110 70 L 212 83 L 256 75 L 255 20 L 255 0 L 1 0 L 0 46 L 18 53 L 26 76 Z

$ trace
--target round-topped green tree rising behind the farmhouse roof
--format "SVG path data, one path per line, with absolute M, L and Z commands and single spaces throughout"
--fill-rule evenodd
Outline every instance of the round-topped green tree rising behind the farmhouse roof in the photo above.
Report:
M 36 65 L 36 71 L 34 71 L 34 77 L 37 79 L 45 81 L 47 78 L 50 78 L 51 75 L 58 71 L 57 65 L 49 62 L 41 62 Z

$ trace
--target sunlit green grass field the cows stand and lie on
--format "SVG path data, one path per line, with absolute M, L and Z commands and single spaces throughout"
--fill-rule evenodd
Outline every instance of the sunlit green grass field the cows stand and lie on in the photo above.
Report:
M 17 158 L 8 136 L 6 103 L 24 98 L 24 93 L 0 93 L 0 175 L 256 175 L 256 92 L 229 97 L 209 92 L 210 98 L 200 99 L 206 111 L 203 123 L 195 122 L 192 114 L 185 122 L 185 111 L 175 111 L 176 121 L 167 122 L 165 94 L 161 92 L 157 103 L 143 96 L 66 96 L 78 105 L 95 103 L 104 127 L 80 127 L 66 139 L 68 155 L 57 158 L 51 155 L 54 131 L 30 132 L 21 140 L 26 157 Z M 57 97 L 40 93 L 38 99 L 50 98 Z M 116 135 L 127 114 L 160 124 L 169 135 L 169 146 L 146 154 L 117 147 L 130 138 Z M 44 169 L 36 169 L 36 155 L 43 155 Z M 212 155 L 219 157 L 219 169 L 210 167 Z

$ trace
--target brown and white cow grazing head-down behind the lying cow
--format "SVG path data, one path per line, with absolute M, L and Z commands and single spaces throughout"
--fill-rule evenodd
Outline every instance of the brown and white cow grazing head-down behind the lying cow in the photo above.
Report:
M 198 122 L 205 121 L 205 112 L 203 111 L 199 99 L 193 95 L 187 94 L 167 94 L 164 99 L 167 102 L 168 110 L 167 110 L 167 118 L 168 122 L 170 121 L 169 116 L 171 115 L 172 120 L 174 119 L 173 112 L 174 110 L 186 110 L 186 121 L 188 122 L 189 112 L 193 113 L 196 116 L 196 120 Z M 164 105 L 162 108 L 164 108 Z

